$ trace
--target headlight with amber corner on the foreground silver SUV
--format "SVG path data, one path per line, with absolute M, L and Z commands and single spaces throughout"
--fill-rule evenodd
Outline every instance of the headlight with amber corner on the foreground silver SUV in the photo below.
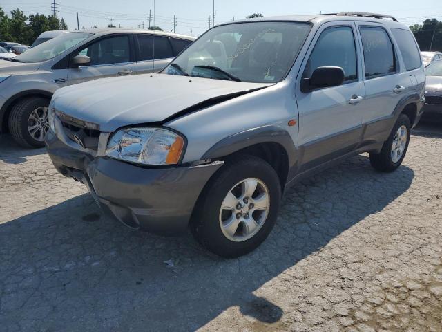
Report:
M 174 165 L 180 161 L 184 138 L 162 128 L 125 128 L 109 140 L 106 156 L 144 165 Z

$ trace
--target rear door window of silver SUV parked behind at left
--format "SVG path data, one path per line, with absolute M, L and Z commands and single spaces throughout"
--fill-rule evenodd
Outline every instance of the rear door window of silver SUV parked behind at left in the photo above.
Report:
M 138 35 L 140 45 L 139 61 L 153 59 L 153 42 L 155 41 L 155 59 L 169 59 L 173 57 L 173 51 L 169 38 L 153 35 Z

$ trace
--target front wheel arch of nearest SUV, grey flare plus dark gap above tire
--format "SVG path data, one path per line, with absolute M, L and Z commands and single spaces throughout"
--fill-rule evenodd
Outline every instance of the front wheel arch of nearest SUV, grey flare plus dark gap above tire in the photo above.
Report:
M 238 154 L 250 154 L 265 160 L 275 169 L 282 190 L 288 182 L 290 169 L 296 165 L 297 154 L 289 133 L 281 127 L 267 125 L 233 134 L 220 140 L 202 159 L 228 160 Z

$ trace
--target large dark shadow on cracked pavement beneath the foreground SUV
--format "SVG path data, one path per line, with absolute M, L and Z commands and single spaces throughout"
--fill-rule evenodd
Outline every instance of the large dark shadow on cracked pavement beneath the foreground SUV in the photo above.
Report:
M 254 291 L 383 210 L 413 178 L 406 166 L 382 174 L 367 156 L 347 160 L 291 188 L 267 241 L 239 259 L 209 254 L 190 234 L 128 230 L 77 196 L 0 225 L 1 326 L 194 331 L 238 306 L 264 330 L 284 311 Z

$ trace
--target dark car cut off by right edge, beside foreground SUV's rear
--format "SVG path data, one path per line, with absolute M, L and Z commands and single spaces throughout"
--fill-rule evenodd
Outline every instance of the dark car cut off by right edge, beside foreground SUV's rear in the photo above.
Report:
M 434 61 L 425 68 L 427 83 L 425 84 L 424 118 L 442 120 L 442 60 Z

